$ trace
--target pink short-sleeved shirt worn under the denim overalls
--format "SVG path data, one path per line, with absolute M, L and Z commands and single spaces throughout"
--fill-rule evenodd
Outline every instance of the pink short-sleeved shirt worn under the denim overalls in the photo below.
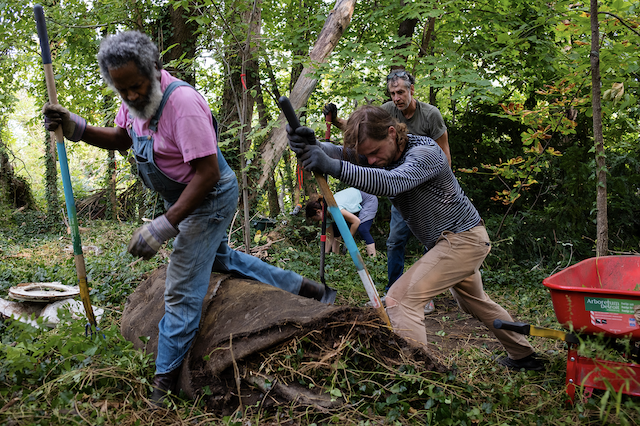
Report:
M 173 81 L 178 79 L 165 70 L 161 71 L 160 87 L 163 92 Z M 149 130 L 150 121 L 131 118 L 124 102 L 115 119 L 118 127 L 129 129 L 133 126 L 139 136 L 153 135 L 154 161 L 173 180 L 190 182 L 195 169 L 189 162 L 217 152 L 218 142 L 209 105 L 190 87 L 181 86 L 171 93 L 156 133 Z

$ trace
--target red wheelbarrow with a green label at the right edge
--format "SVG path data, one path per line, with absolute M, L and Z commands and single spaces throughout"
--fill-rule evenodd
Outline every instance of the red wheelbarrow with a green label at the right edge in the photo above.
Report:
M 580 338 L 603 335 L 613 349 L 629 362 L 607 361 L 578 354 L 580 339 L 572 333 L 507 323 L 494 326 L 522 334 L 565 340 L 567 394 L 573 399 L 576 387 L 587 395 L 594 389 L 613 390 L 640 396 L 640 256 L 602 256 L 570 266 L 544 279 L 551 293 L 558 322 Z M 617 343 L 629 340 L 629 345 Z

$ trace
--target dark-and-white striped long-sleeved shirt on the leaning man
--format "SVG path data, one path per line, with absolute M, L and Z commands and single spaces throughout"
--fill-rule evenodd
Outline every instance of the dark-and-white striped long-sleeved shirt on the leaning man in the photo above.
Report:
M 342 147 L 323 144 L 323 150 L 342 159 Z M 409 135 L 400 159 L 385 168 L 342 161 L 340 180 L 369 194 L 390 197 L 427 249 L 442 232 L 464 232 L 480 222 L 480 214 L 458 184 L 444 152 L 426 136 Z

